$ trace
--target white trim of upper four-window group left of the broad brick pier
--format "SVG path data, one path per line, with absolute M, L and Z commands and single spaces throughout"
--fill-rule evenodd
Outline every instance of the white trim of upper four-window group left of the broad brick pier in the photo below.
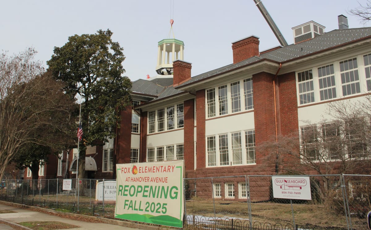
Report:
M 205 114 L 206 114 L 206 119 L 210 119 L 210 118 L 216 118 L 216 117 L 220 117 L 220 116 L 226 116 L 226 115 L 229 115 L 229 114 L 237 114 L 237 113 L 240 113 L 240 112 L 245 112 L 245 111 L 252 111 L 254 108 L 252 109 L 245 109 L 245 99 L 244 99 L 244 80 L 246 79 L 252 79 L 252 76 L 248 77 L 248 78 L 243 78 L 243 79 L 239 79 L 239 80 L 236 80 L 236 81 L 232 81 L 232 82 L 228 82 L 226 84 L 222 84 L 222 85 L 218 85 L 216 87 L 212 87 L 212 88 L 207 88 L 205 89 Z M 231 84 L 233 83 L 236 83 L 236 82 L 239 82 L 239 101 L 240 101 L 240 109 L 239 111 L 235 111 L 235 112 L 232 112 L 232 95 L 231 95 Z M 221 86 L 227 86 L 226 89 L 227 89 L 227 111 L 226 111 L 226 114 L 222 114 L 220 115 L 219 114 L 219 87 Z M 215 108 L 215 114 L 213 116 L 209 116 L 209 111 L 208 111 L 208 103 L 207 103 L 207 91 L 210 90 L 210 89 L 214 89 L 214 93 L 215 93 L 215 98 L 214 98 L 214 108 Z M 254 91 L 254 89 L 253 89 Z M 254 96 L 253 96 L 254 98 Z

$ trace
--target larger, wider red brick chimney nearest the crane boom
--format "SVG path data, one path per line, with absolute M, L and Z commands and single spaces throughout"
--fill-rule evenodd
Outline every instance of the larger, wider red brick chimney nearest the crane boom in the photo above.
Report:
M 259 55 L 259 37 L 251 35 L 232 42 L 233 64 Z

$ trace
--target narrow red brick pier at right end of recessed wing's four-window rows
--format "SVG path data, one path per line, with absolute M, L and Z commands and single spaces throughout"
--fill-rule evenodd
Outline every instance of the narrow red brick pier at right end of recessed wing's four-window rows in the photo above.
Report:
M 194 99 L 184 101 L 184 162 L 194 169 Z

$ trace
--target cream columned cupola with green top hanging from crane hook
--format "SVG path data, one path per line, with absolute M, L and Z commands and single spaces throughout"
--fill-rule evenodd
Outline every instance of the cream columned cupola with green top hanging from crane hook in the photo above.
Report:
M 158 42 L 156 72 L 159 75 L 173 75 L 173 62 L 184 60 L 184 43 L 178 39 L 163 39 Z

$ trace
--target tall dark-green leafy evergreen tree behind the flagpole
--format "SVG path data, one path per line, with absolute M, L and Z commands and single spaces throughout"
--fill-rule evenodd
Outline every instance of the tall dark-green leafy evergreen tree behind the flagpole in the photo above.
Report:
M 125 72 L 123 49 L 111 36 L 109 29 L 70 36 L 64 46 L 54 48 L 47 61 L 54 78 L 66 83 L 65 91 L 84 100 L 79 178 L 84 178 L 86 147 L 102 145 L 114 138 L 119 111 L 131 103 L 131 82 L 121 76 Z

